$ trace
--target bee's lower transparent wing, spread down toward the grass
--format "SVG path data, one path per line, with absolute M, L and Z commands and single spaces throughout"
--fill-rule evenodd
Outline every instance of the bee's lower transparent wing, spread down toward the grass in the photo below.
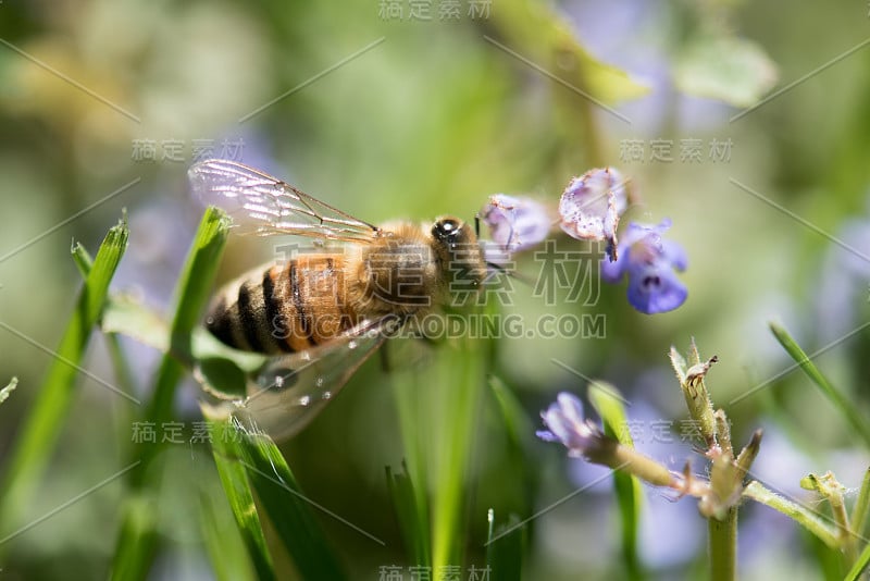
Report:
M 275 440 L 298 433 L 335 398 L 399 321 L 387 316 L 363 322 L 326 345 L 271 360 L 257 383 L 249 383 L 240 406 L 251 430 Z

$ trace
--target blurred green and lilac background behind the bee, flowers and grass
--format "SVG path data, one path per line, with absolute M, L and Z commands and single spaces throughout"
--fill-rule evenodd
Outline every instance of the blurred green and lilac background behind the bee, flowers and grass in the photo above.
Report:
M 619 386 L 635 403 L 630 416 L 676 421 L 685 410 L 666 354 L 694 336 L 703 355 L 719 356 L 710 385 L 734 421 L 735 441 L 768 430 L 756 465 L 762 478 L 801 494 L 800 475 L 833 469 L 858 485 L 866 450 L 855 449 L 805 378 L 776 376 L 790 360 L 767 322 L 782 321 L 808 353 L 824 348 L 817 363 L 867 409 L 870 341 L 866 331 L 848 334 L 865 323 L 870 294 L 861 257 L 870 255 L 868 7 L 456 5 L 458 17 L 438 1 L 0 3 L 0 383 L 20 379 L 0 406 L 0 470 L 51 360 L 40 346 L 57 346 L 80 284 L 71 238 L 96 250 L 126 208 L 130 247 L 113 286 L 166 312 L 202 210 L 187 193 L 186 171 L 210 152 L 375 223 L 443 213 L 471 220 L 499 191 L 555 205 L 572 176 L 601 165 L 632 180 L 636 203 L 624 223 L 673 220 L 670 237 L 689 258 L 681 275 L 689 298 L 674 312 L 641 314 L 620 286 L 602 286 L 594 306 L 551 307 L 531 285 L 514 283 L 509 310 L 527 320 L 604 313 L 606 333 L 496 342 L 493 372 L 527 416 L 526 455 L 509 453 L 487 396 L 469 442 L 463 579 L 469 565 L 483 565 L 488 508 L 525 519 L 604 473 L 534 441 L 537 413 L 558 391 L 585 392 L 584 380 L 551 359 Z M 765 96 L 773 98 L 747 109 Z M 688 140 L 701 144 L 699 159 L 681 159 Z M 714 141 L 729 144 L 726 159 L 710 154 Z M 630 143 L 642 146 L 639 159 L 626 154 Z M 654 143 L 670 143 L 672 159 L 652 159 Z M 222 280 L 270 260 L 274 245 L 233 238 Z M 537 275 L 531 256 L 517 268 Z M 145 388 L 157 354 L 134 342 L 125 347 Z M 100 337 L 86 367 L 115 381 Z M 29 520 L 121 467 L 132 428 L 117 418 L 129 404 L 87 376 L 79 388 L 37 502 L 26 507 Z M 198 419 L 196 400 L 189 382 L 179 421 Z M 377 578 L 384 565 L 403 565 L 409 576 L 384 482 L 384 467 L 403 457 L 397 434 L 393 391 L 373 362 L 285 446 L 303 490 L 386 541 L 372 544 L 324 517 L 360 579 Z M 674 469 L 693 457 L 688 446 L 661 446 L 649 432 L 636 440 Z M 208 450 L 185 444 L 166 456 L 178 468 L 167 471 L 161 493 L 169 549 L 151 576 L 210 578 L 185 496 L 188 479 L 214 481 L 220 494 Z M 704 527 L 693 503 L 647 493 L 642 554 L 651 574 L 700 570 Z M 107 485 L 4 542 L 0 577 L 103 576 L 122 494 L 121 484 Z M 622 574 L 610 494 L 601 484 L 531 524 L 527 578 Z M 817 578 L 796 526 L 763 507 L 747 512 L 747 578 L 774 565 L 776 574 Z M 754 534 L 781 541 L 754 551 Z

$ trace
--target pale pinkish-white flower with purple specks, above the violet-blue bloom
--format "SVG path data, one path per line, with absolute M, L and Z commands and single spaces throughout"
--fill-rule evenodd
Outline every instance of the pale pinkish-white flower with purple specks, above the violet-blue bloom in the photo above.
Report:
M 562 230 L 581 240 L 607 240 L 607 255 L 617 260 L 617 226 L 629 206 L 625 181 L 613 168 L 589 170 L 574 177 L 559 200 Z

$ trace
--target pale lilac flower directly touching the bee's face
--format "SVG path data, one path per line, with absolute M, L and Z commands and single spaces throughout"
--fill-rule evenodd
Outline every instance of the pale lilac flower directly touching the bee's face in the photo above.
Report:
M 493 240 L 508 252 L 524 250 L 547 237 L 552 220 L 544 205 L 531 198 L 505 194 L 489 196 L 478 214 Z

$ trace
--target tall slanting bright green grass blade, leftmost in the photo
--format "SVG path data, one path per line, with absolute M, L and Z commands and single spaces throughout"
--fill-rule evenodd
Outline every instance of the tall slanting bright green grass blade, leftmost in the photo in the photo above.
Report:
M 57 357 L 49 366 L 46 380 L 10 453 L 11 459 L 0 486 L 0 521 L 9 528 L 14 527 L 24 507 L 30 506 L 72 405 L 78 366 L 100 318 L 109 283 L 127 247 L 129 232 L 125 219 L 109 230 L 100 245 Z

